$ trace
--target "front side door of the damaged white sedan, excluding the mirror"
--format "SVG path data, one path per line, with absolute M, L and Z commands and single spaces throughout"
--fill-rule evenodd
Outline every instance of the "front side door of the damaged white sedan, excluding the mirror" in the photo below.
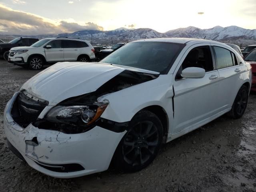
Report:
M 191 79 L 180 76 L 187 67 L 206 70 L 204 78 Z M 196 44 L 188 48 L 174 71 L 174 132 L 193 127 L 220 109 L 218 102 L 219 73 L 210 44 Z

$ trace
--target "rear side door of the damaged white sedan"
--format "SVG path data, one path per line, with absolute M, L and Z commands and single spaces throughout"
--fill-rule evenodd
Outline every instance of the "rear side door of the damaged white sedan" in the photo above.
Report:
M 212 44 L 216 69 L 220 74 L 218 105 L 223 109 L 232 107 L 238 92 L 238 85 L 242 84 L 242 68 L 236 54 L 225 46 Z

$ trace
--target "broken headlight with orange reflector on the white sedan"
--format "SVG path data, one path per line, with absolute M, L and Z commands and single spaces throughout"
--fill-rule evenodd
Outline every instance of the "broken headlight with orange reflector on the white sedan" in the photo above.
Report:
M 90 125 L 101 116 L 107 106 L 108 103 L 56 106 L 46 114 L 45 119 L 50 122 L 68 123 L 76 126 Z

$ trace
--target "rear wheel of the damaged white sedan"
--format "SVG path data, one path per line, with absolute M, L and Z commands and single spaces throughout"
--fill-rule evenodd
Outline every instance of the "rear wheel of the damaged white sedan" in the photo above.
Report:
M 238 119 L 242 117 L 246 109 L 247 102 L 248 102 L 248 88 L 243 85 L 236 95 L 232 108 L 230 112 L 228 112 L 228 116 L 234 119 Z

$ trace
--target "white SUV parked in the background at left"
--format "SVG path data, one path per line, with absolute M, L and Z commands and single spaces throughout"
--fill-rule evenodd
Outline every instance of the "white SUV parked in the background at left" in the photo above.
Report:
M 40 70 L 44 64 L 62 61 L 88 62 L 95 59 L 94 48 L 89 41 L 70 38 L 46 38 L 30 47 L 10 50 L 8 62 Z

